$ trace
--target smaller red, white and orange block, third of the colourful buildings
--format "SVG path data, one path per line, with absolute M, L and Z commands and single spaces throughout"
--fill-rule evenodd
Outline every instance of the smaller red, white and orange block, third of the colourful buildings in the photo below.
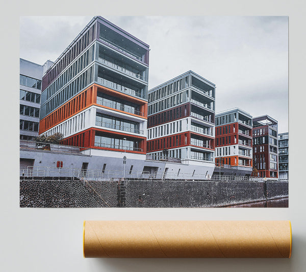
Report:
M 216 166 L 222 168 L 223 174 L 228 172 L 238 176 L 250 176 L 252 173 L 252 116 L 240 108 L 218 112 L 215 137 Z M 234 169 L 235 171 L 231 171 Z

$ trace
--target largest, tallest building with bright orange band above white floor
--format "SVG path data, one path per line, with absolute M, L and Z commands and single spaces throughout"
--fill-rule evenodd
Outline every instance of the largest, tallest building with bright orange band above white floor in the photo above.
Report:
M 42 79 L 39 134 L 63 144 L 146 153 L 149 46 L 96 16 Z M 98 154 L 98 153 L 96 153 Z

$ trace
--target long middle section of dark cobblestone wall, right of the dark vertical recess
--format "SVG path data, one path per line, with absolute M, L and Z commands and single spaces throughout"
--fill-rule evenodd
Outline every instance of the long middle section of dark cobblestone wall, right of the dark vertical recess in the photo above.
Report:
M 255 182 L 126 181 L 126 207 L 220 207 L 265 200 Z

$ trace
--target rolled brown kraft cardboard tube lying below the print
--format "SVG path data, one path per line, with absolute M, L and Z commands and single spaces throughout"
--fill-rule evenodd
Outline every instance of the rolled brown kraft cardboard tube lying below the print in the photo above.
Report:
M 290 221 L 84 221 L 84 257 L 290 258 Z

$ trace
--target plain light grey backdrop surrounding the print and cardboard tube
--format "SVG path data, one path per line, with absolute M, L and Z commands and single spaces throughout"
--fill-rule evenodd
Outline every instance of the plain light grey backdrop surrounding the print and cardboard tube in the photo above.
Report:
M 305 6 L 300 1 L 6 3 L 2 10 L 2 271 L 305 271 Z M 103 2 L 103 3 L 102 3 Z M 30 5 L 32 3 L 33 5 Z M 174 4 L 175 3 L 175 4 Z M 145 5 L 144 5 L 145 4 Z M 289 15 L 289 208 L 20 209 L 19 15 Z M 99 13 L 99 14 L 96 14 Z M 13 102 L 12 102 L 13 101 Z M 291 259 L 84 259 L 83 220 L 291 220 Z

